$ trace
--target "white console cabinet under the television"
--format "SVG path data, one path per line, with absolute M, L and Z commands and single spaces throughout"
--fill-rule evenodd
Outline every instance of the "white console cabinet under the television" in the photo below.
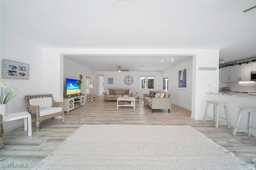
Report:
M 70 110 L 85 105 L 85 94 L 74 95 L 70 98 L 63 98 L 63 101 L 64 111 L 68 113 Z

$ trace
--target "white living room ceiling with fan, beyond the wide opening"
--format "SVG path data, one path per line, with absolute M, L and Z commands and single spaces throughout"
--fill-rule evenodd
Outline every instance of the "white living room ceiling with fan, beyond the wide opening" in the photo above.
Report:
M 192 59 L 192 56 L 170 55 L 66 55 L 65 58 L 95 71 L 121 69 L 129 71 L 162 71 Z

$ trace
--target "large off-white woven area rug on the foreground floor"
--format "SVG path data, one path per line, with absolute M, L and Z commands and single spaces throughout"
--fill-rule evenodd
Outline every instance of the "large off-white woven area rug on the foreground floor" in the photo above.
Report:
M 33 169 L 248 170 L 190 126 L 82 125 Z

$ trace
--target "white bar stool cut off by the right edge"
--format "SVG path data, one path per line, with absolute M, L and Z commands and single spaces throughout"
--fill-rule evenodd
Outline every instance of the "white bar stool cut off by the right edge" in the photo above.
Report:
M 252 132 L 251 131 L 251 129 L 255 129 L 256 130 L 256 128 L 251 127 L 251 124 L 252 124 L 252 113 L 251 112 L 256 113 L 256 108 L 254 108 L 254 107 L 246 107 L 246 106 L 238 106 L 238 108 L 239 108 L 239 111 L 238 111 L 238 115 L 237 115 L 237 118 L 236 118 L 236 124 L 234 126 L 232 135 L 236 135 L 237 128 L 242 129 L 243 131 L 246 131 L 248 136 L 250 136 L 251 133 L 255 133 L 256 134 L 256 132 Z M 247 129 L 238 126 L 240 118 L 241 118 L 242 111 L 247 111 L 248 112 Z

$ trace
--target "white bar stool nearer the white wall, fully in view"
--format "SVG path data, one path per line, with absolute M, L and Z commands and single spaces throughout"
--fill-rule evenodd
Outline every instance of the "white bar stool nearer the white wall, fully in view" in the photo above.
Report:
M 218 128 L 218 125 L 228 125 L 228 128 L 230 129 L 230 123 L 229 123 L 229 120 L 228 120 L 228 112 L 227 112 L 227 108 L 226 108 L 227 104 L 222 103 L 222 102 L 216 102 L 216 101 L 206 101 L 206 102 L 207 102 L 207 104 L 206 104 L 206 108 L 205 108 L 205 111 L 204 111 L 203 122 L 205 121 L 206 117 L 210 117 L 209 115 L 207 115 L 207 110 L 208 110 L 209 104 L 212 104 L 213 105 L 213 117 L 210 117 L 210 118 L 214 120 L 215 127 Z M 219 106 L 224 107 L 226 118 L 219 116 Z M 219 123 L 219 118 L 226 120 L 227 123 Z

